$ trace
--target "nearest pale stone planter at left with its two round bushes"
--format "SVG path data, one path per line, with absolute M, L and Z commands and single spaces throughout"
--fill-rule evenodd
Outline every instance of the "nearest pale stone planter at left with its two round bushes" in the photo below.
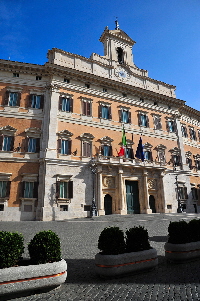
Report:
M 25 260 L 26 264 L 18 261 L 24 250 L 22 235 L 11 234 L 15 241 L 9 244 L 10 238 L 7 236 L 6 239 L 2 239 L 5 234 L 0 232 L 0 259 L 7 256 L 6 248 L 1 248 L 4 244 L 9 244 L 10 254 L 16 255 L 12 263 L 11 260 L 9 264 L 6 260 L 3 261 L 0 269 L 0 295 L 57 286 L 65 282 L 67 264 L 61 259 L 60 239 L 54 232 L 42 231 L 33 237 L 28 245 L 30 259 Z M 22 265 L 13 266 L 17 261 Z

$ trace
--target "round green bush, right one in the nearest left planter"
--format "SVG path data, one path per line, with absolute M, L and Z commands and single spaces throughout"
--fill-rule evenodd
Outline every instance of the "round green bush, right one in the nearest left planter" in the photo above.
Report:
M 51 230 L 37 233 L 28 244 L 28 250 L 34 264 L 61 260 L 60 239 Z

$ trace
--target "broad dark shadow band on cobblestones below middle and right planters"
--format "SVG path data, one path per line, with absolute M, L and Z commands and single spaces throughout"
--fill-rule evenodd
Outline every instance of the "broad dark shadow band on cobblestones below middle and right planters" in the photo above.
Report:
M 187 284 L 200 283 L 200 260 L 187 263 L 168 263 L 164 256 L 158 256 L 155 269 L 128 274 L 120 278 L 100 278 L 94 270 L 94 259 L 66 259 L 68 276 L 66 283 L 138 283 L 138 284 Z

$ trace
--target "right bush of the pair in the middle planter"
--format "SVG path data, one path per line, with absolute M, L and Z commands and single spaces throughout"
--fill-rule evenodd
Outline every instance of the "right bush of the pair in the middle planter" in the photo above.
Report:
M 142 226 L 130 228 L 126 231 L 126 252 L 149 250 L 148 231 Z

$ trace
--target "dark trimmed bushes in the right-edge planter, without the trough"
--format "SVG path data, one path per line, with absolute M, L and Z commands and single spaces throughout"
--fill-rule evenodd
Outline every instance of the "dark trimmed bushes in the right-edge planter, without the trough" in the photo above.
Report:
M 200 220 L 170 222 L 168 233 L 168 242 L 172 244 L 200 241 Z

